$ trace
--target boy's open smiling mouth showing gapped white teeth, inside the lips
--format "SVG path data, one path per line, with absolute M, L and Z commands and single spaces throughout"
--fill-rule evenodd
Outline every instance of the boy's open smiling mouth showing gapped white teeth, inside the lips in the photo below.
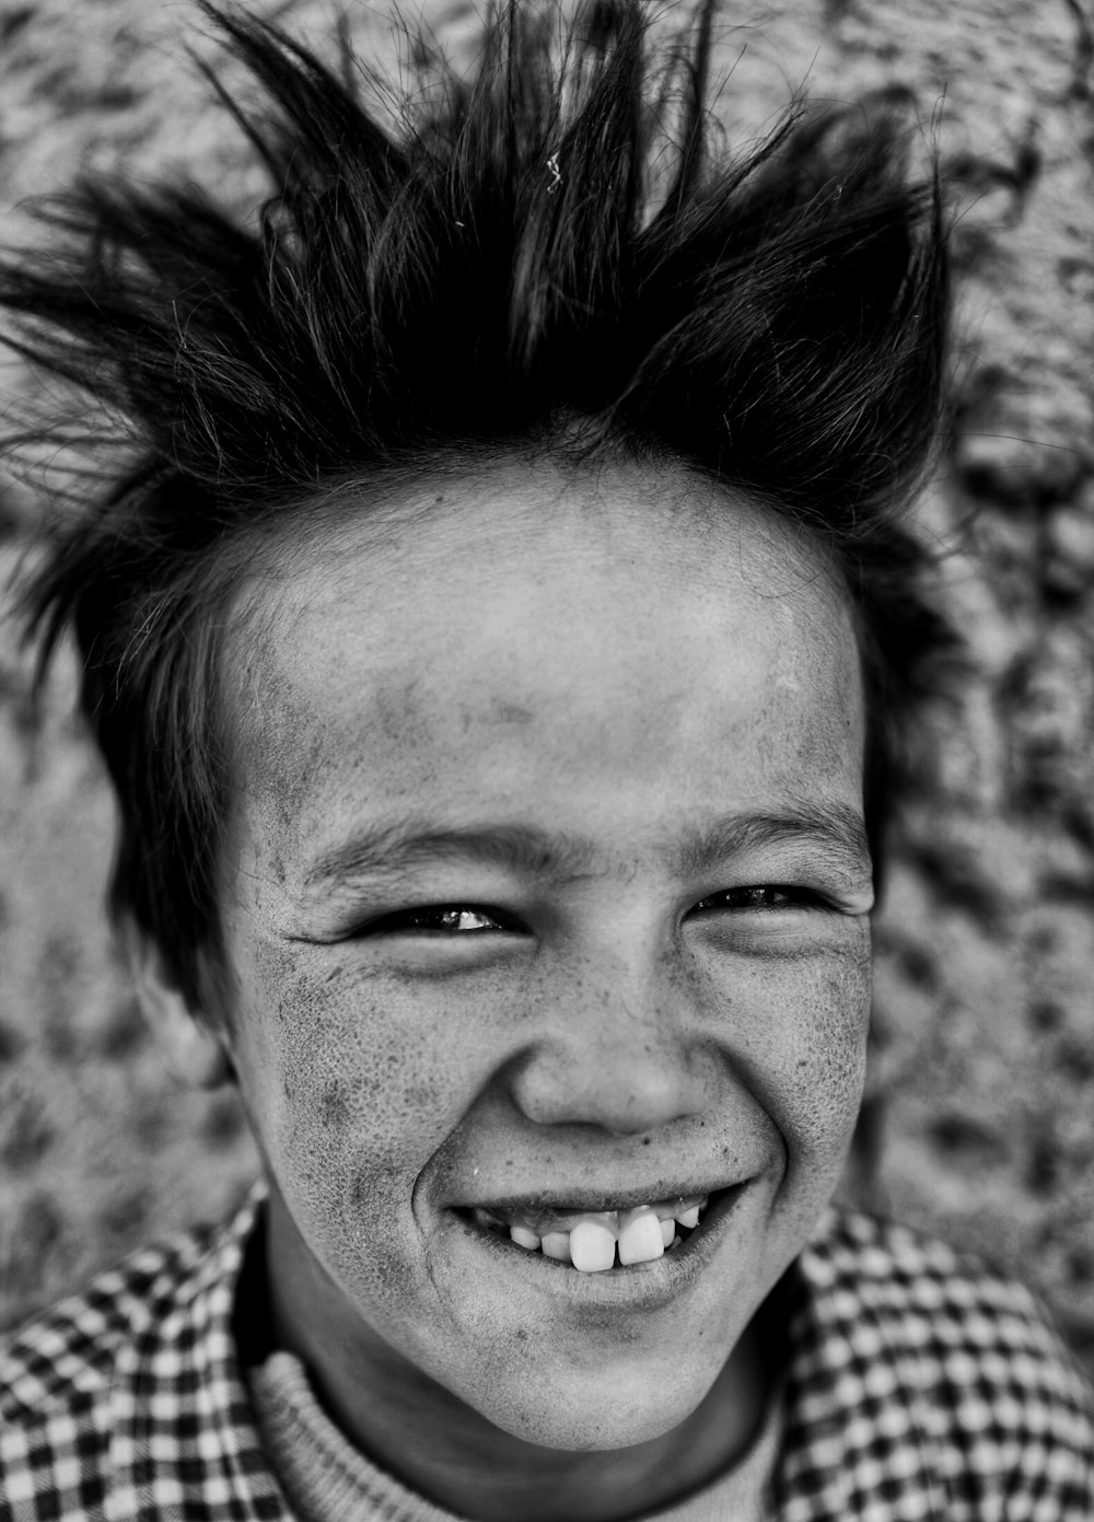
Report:
M 651 1263 L 676 1253 L 708 1212 L 732 1190 L 659 1199 L 619 1210 L 546 1210 L 475 1205 L 460 1215 L 478 1230 L 568 1265 L 580 1274 Z

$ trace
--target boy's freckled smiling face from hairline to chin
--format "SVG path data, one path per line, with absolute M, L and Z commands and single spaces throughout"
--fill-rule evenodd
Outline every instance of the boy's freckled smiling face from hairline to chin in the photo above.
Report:
M 292 1339 L 321 1380 L 425 1371 L 551 1447 L 665 1432 L 858 1108 L 846 597 L 692 478 L 516 464 L 342 514 L 254 597 L 228 1040 Z M 698 1230 L 607 1272 L 508 1236 L 680 1196 Z

